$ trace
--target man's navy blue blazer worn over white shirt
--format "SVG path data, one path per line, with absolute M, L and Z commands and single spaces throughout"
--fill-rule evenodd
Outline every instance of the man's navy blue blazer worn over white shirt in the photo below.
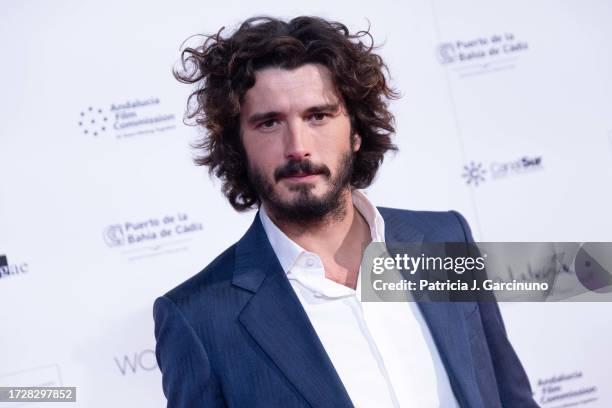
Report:
M 379 208 L 387 242 L 471 242 L 457 212 Z M 419 302 L 461 407 L 537 407 L 495 302 Z M 168 407 L 352 407 L 259 216 L 155 301 Z

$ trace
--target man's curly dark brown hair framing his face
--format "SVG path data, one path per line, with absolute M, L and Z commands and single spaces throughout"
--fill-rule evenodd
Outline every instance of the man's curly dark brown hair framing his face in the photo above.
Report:
M 260 198 L 248 178 L 248 161 L 240 139 L 240 107 L 255 84 L 257 70 L 294 69 L 307 63 L 327 67 L 336 92 L 350 117 L 352 132 L 361 136 L 350 184 L 372 183 L 384 154 L 397 147 L 391 141 L 394 117 L 387 101 L 398 94 L 385 78 L 382 58 L 375 54 L 368 30 L 350 34 L 339 22 L 319 17 L 296 17 L 288 22 L 272 17 L 244 21 L 229 37 L 205 35 L 202 45 L 181 52 L 176 79 L 196 84 L 189 96 L 185 120 L 202 125 L 205 136 L 193 145 L 195 163 L 208 166 L 222 181 L 223 194 L 238 211 L 259 206 Z M 366 45 L 363 37 L 370 39 Z

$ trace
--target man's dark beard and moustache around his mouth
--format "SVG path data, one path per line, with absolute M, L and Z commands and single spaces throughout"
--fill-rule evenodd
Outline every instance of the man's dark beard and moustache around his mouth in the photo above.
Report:
M 265 177 L 258 168 L 249 165 L 249 181 L 257 192 L 260 200 L 266 204 L 271 215 L 278 221 L 307 227 L 325 222 L 326 220 L 342 220 L 346 214 L 346 204 L 342 194 L 349 186 L 353 174 L 355 154 L 349 150 L 342 155 L 332 177 L 331 171 L 325 165 L 314 165 L 310 160 L 291 160 L 274 172 L 274 183 L 295 174 L 319 174 L 329 185 L 328 190 L 320 197 L 313 194 L 315 188 L 311 183 L 299 183 L 289 187 L 295 192 L 295 197 L 282 199 L 274 188 L 274 184 Z

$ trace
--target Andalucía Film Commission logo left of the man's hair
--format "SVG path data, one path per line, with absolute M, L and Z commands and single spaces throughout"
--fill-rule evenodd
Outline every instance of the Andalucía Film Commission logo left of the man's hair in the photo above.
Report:
M 126 139 L 176 128 L 177 117 L 159 98 L 130 99 L 110 105 L 85 105 L 77 116 L 79 132 L 93 138 Z

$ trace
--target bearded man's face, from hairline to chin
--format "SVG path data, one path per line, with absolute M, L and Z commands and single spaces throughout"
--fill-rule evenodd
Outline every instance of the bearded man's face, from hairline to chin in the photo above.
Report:
M 258 71 L 240 127 L 249 179 L 275 216 L 307 223 L 341 210 L 361 139 L 326 67 Z

